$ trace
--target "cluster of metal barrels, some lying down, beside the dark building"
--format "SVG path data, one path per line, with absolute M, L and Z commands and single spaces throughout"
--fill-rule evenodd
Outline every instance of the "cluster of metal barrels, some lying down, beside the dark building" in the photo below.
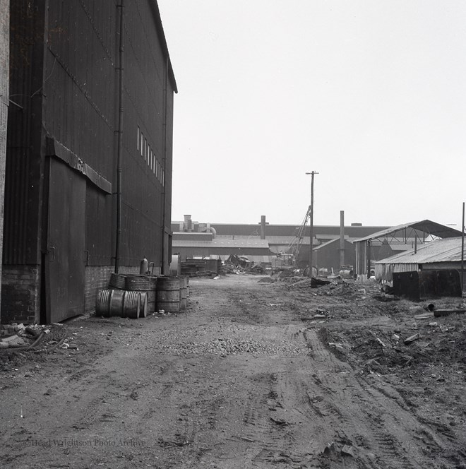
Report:
M 108 288 L 97 292 L 95 314 L 145 318 L 157 311 L 176 313 L 188 306 L 189 278 L 112 273 Z

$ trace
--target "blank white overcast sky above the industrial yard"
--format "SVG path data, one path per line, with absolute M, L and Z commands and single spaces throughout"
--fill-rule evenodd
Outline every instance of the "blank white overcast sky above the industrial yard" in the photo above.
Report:
M 158 0 L 172 220 L 460 229 L 464 0 Z

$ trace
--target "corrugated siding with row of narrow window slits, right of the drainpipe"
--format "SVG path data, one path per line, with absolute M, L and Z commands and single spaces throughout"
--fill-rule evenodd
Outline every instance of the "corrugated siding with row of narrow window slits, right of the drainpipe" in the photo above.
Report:
M 162 262 L 163 203 L 170 208 L 171 136 L 165 148 L 165 114 L 172 117 L 172 97 L 165 109 L 166 61 L 150 1 L 126 2 L 124 167 L 121 263 L 146 256 Z M 167 94 L 172 93 L 168 90 Z M 167 111 L 167 112 L 166 112 Z M 171 125 L 171 124 L 170 124 Z M 143 135 L 138 148 L 138 128 Z M 150 147 L 150 150 L 149 150 Z M 165 162 L 165 155 L 168 161 Z M 163 182 L 163 184 L 162 184 Z M 167 224 L 169 228 L 169 213 Z

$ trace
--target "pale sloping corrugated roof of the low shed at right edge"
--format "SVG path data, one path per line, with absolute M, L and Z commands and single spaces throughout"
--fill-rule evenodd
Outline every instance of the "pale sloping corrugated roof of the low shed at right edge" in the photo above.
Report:
M 433 263 L 461 261 L 461 237 L 436 239 L 427 244 L 421 244 L 410 251 L 395 254 L 395 256 L 377 261 L 376 264 L 400 263 Z

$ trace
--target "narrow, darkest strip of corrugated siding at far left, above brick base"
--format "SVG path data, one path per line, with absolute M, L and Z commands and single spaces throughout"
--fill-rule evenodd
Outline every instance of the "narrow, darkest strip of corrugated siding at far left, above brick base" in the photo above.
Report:
M 11 2 L 10 97 L 4 199 L 4 264 L 37 264 L 42 187 L 40 148 L 33 132 L 42 105 L 43 11 L 32 2 Z M 20 107 L 23 109 L 20 109 Z

